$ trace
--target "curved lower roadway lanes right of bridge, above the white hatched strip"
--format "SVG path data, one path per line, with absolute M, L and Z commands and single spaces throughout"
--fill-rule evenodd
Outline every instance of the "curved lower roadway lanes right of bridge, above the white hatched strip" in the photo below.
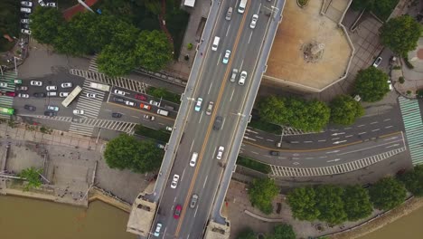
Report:
M 281 167 L 326 167 L 403 147 L 405 147 L 404 139 L 399 132 L 383 139 L 356 142 L 348 147 L 322 148 L 320 151 L 310 152 L 280 151 L 278 156 L 271 156 L 268 148 L 242 144 L 240 154 Z

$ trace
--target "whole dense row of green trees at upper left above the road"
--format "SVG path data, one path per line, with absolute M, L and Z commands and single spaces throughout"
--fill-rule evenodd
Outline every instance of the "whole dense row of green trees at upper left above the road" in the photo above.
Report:
M 31 15 L 33 38 L 72 56 L 99 53 L 99 71 L 124 75 L 142 65 L 158 71 L 172 60 L 173 46 L 164 33 L 139 31 L 113 14 L 76 14 L 65 22 L 52 7 L 36 7 Z

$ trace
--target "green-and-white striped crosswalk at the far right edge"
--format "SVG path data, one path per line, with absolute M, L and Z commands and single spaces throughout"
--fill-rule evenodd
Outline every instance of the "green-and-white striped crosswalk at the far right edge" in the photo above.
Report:
M 399 98 L 405 135 L 413 165 L 423 163 L 423 124 L 418 100 Z

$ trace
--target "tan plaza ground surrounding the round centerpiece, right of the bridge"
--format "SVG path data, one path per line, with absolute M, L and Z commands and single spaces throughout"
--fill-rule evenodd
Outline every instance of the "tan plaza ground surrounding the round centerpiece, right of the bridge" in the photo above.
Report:
M 287 1 L 268 59 L 265 84 L 287 81 L 287 84 L 323 89 L 344 75 L 353 49 L 342 28 L 320 14 L 322 4 L 323 1 L 309 1 L 302 9 L 296 1 Z M 311 42 L 324 44 L 318 62 L 306 62 L 301 50 Z

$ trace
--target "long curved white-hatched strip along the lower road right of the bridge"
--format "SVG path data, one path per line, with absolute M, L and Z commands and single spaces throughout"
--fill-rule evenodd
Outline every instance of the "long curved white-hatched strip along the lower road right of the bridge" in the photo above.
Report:
M 270 165 L 270 175 L 275 177 L 315 177 L 344 174 L 364 167 L 369 167 L 385 158 L 390 158 L 394 155 L 404 152 L 405 150 L 406 148 L 396 148 L 368 158 L 362 158 L 352 162 L 329 167 L 281 167 Z

